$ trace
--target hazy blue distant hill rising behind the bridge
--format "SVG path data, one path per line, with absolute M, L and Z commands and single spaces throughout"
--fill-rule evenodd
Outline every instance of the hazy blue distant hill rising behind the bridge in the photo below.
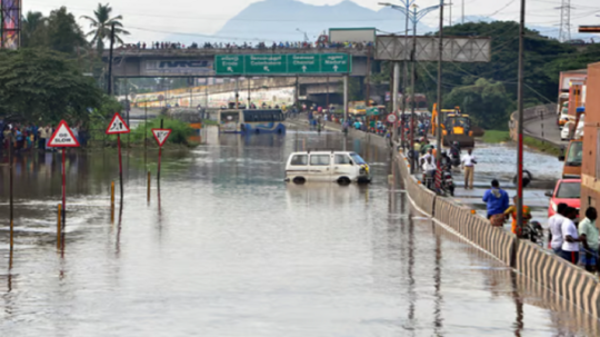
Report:
M 309 40 L 329 28 L 374 27 L 380 33 L 403 33 L 404 16 L 397 10 L 382 8 L 379 11 L 361 7 L 346 0 L 334 6 L 313 6 L 296 0 L 266 0 L 250 4 L 238 16 L 229 20 L 214 36 L 219 40 L 240 39 L 241 41 L 263 40 L 302 41 L 303 33 Z M 432 31 L 430 27 L 419 24 L 418 33 Z

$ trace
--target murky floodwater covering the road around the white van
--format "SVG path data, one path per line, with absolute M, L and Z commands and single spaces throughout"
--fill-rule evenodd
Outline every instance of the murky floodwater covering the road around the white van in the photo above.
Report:
M 9 269 L 2 166 L 0 336 L 598 336 L 598 321 L 416 212 L 388 153 L 349 140 L 373 184 L 283 182 L 297 147 L 341 135 L 211 135 L 124 156 L 68 156 L 56 248 L 58 155 L 17 158 Z M 388 184 L 388 175 L 393 175 Z M 117 190 L 119 190 L 117 184 Z M 119 194 L 117 194 L 119 195 Z

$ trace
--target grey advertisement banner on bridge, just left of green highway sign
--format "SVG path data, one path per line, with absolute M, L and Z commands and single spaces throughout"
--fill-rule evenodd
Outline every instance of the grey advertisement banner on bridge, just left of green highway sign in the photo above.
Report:
M 142 60 L 140 76 L 213 76 L 212 60 Z

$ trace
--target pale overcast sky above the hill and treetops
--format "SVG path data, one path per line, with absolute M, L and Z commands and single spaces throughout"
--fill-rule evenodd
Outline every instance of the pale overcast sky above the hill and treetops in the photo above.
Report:
M 106 2 L 104 0 L 103 2 Z M 238 14 L 252 2 L 260 0 L 118 0 L 110 4 L 114 14 L 122 14 L 123 24 L 132 33 L 126 42 L 151 41 L 166 39 L 177 33 L 213 34 L 229 19 Z M 316 6 L 336 4 L 340 0 L 300 0 Z M 353 2 L 377 10 L 381 8 L 378 2 L 399 3 L 399 0 L 352 0 Z M 98 0 L 26 0 L 23 12 L 34 10 L 48 14 L 52 9 L 66 6 L 78 18 L 83 14 L 92 16 Z M 447 1 L 449 2 L 449 1 Z M 466 16 L 493 17 L 500 20 L 519 19 L 520 0 L 453 0 L 453 21 L 459 19 L 461 4 L 464 2 Z M 527 22 L 532 26 L 547 26 L 549 30 L 560 21 L 560 11 L 554 9 L 560 6 L 560 0 L 528 0 Z M 418 0 L 421 7 L 438 4 L 439 0 Z M 600 1 L 598 0 L 571 0 L 571 23 L 577 31 L 578 24 L 600 24 Z M 430 14 L 423 21 L 433 26 L 436 14 Z M 429 20 L 429 21 L 428 21 Z M 336 18 L 331 18 L 328 26 L 336 26 Z M 80 20 L 84 30 L 88 26 Z M 339 24 L 338 24 L 339 26 Z M 151 32 L 164 31 L 169 33 Z M 543 33 L 543 31 L 542 31 Z

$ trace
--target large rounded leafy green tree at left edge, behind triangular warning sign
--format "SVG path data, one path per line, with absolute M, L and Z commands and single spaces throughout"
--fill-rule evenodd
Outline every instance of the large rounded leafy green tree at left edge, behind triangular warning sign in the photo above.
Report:
M 28 122 L 86 121 L 106 101 L 93 79 L 63 54 L 0 50 L 0 116 Z

